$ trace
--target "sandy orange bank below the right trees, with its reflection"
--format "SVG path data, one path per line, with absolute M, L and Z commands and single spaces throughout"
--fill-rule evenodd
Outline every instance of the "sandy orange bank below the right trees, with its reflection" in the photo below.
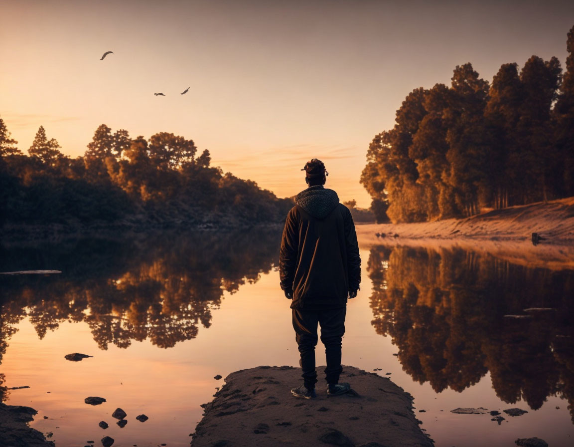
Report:
M 574 197 L 492 210 L 466 219 L 356 225 L 359 245 L 428 246 L 488 253 L 514 264 L 574 268 Z M 532 243 L 532 233 L 543 240 Z

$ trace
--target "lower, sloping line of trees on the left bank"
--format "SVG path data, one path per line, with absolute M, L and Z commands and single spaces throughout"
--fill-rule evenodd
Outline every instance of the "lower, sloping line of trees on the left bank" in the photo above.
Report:
M 96 129 L 83 156 L 60 152 L 40 126 L 25 155 L 0 118 L 0 224 L 218 226 L 281 222 L 292 206 L 210 165 L 193 140 Z

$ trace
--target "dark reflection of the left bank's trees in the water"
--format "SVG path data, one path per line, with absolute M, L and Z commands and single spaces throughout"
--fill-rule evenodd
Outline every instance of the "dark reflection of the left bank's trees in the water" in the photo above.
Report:
M 210 327 L 224 291 L 234 293 L 269 272 L 280 236 L 277 231 L 200 233 L 3 249 L 0 271 L 63 273 L 1 279 L 0 363 L 25 317 L 40 339 L 61 322 L 87 322 L 100 349 L 127 348 L 146 338 L 169 348 L 195 338 L 199 324 Z

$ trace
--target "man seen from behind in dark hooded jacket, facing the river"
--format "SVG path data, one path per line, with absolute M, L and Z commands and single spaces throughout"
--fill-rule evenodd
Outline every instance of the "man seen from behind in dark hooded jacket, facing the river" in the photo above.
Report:
M 317 323 L 325 345 L 327 394 L 343 394 L 339 384 L 341 340 L 345 333 L 347 297 L 355 298 L 360 283 L 360 257 L 351 212 L 333 190 L 324 188 L 327 169 L 312 159 L 305 167 L 309 187 L 297 194 L 281 239 L 280 278 L 285 296 L 292 299 L 293 328 L 301 354 L 304 383 L 292 394 L 316 396 L 315 346 Z

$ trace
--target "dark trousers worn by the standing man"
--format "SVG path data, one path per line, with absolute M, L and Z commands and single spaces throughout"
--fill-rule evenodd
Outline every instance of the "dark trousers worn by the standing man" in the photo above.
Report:
M 347 307 L 325 310 L 293 309 L 293 329 L 299 346 L 303 369 L 302 377 L 306 388 L 315 388 L 315 346 L 317 345 L 317 323 L 321 326 L 321 341 L 325 345 L 327 383 L 339 383 L 341 367 L 341 340 L 345 333 L 345 315 Z

